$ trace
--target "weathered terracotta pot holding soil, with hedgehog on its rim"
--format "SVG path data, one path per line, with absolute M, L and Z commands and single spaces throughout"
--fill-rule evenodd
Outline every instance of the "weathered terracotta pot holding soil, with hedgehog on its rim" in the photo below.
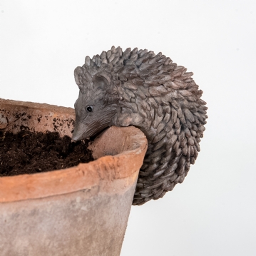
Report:
M 0 99 L 0 128 L 71 135 L 72 108 Z M 97 160 L 65 170 L 0 178 L 1 256 L 120 255 L 147 148 L 137 128 L 108 128 Z

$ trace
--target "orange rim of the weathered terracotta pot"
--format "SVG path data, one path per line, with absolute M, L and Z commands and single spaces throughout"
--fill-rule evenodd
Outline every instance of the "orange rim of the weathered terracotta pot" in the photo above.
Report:
M 45 103 L 29 103 L 24 101 L 9 101 L 0 98 L 0 108 L 4 105 L 21 106 L 24 108 L 49 108 L 63 113 L 73 114 L 73 108 L 48 105 Z M 78 190 L 91 189 L 102 182 L 111 182 L 117 179 L 131 177 L 137 179 L 135 173 L 143 163 L 147 150 L 145 135 L 133 126 L 112 126 L 104 131 L 101 136 L 112 135 L 113 139 L 121 140 L 126 135 L 130 140 L 125 140 L 126 146 L 122 147 L 117 155 L 106 155 L 90 163 L 80 163 L 72 168 L 53 170 L 46 173 L 24 174 L 0 178 L 0 203 L 7 203 L 35 198 L 46 198 L 52 195 L 73 193 Z M 119 137 L 118 137 L 119 136 Z M 121 170 L 120 167 L 122 166 Z

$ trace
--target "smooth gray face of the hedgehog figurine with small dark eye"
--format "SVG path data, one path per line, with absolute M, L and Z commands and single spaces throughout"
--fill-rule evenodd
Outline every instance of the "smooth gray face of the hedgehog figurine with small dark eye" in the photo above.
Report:
M 106 97 L 106 78 L 96 75 L 91 83 L 83 81 L 78 83 L 78 86 L 81 89 L 75 103 L 76 123 L 73 140 L 91 137 L 111 126 L 117 107 L 115 102 L 109 102 Z

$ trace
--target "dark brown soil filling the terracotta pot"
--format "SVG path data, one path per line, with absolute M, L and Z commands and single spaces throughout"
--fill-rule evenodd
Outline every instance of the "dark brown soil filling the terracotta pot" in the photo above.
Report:
M 0 131 L 0 177 L 42 173 L 69 168 L 93 160 L 88 150 L 89 140 L 71 142 L 58 133 L 17 134 Z

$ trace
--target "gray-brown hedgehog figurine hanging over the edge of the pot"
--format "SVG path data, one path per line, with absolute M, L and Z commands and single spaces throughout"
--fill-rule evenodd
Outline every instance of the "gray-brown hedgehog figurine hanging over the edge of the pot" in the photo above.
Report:
M 162 53 L 114 46 L 75 69 L 80 92 L 73 140 L 108 126 L 135 126 L 148 139 L 133 205 L 173 190 L 198 157 L 207 107 L 186 71 Z

